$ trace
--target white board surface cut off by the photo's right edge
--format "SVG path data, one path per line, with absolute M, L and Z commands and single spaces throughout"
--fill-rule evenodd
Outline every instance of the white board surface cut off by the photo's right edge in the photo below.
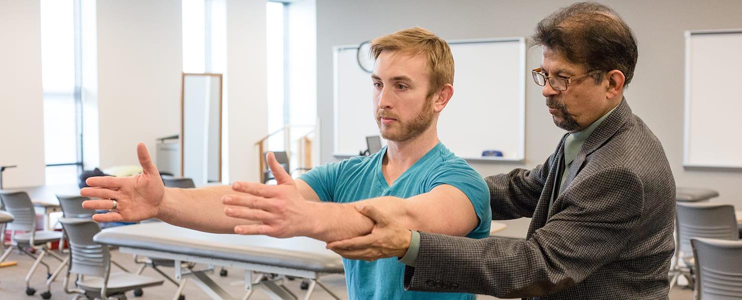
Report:
M 742 30 L 686 32 L 684 166 L 742 167 L 741 70 Z

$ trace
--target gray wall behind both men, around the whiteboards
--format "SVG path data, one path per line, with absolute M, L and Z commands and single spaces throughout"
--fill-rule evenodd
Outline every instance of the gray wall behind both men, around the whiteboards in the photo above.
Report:
M 358 44 L 413 26 L 427 28 L 443 39 L 529 36 L 538 21 L 572 2 L 318 0 L 317 100 L 322 162 L 338 160 L 332 156 L 332 46 Z M 634 113 L 649 124 L 662 141 L 677 185 L 714 188 L 721 193 L 715 201 L 732 202 L 742 209 L 742 172 L 683 170 L 682 164 L 683 31 L 741 28 L 739 13 L 742 12 L 742 1 L 603 2 L 620 13 L 636 33 L 639 62 L 626 91 L 626 99 Z M 529 51 L 527 67 L 537 67 L 540 61 L 540 50 Z M 735 76 L 727 77 L 727 80 L 730 84 L 739 84 L 733 82 L 737 80 Z M 514 167 L 531 168 L 542 164 L 564 133 L 554 126 L 544 103 L 540 87 L 529 79 L 526 84 L 524 164 L 490 163 L 473 164 L 473 167 L 483 176 L 489 176 L 508 172 Z M 372 118 L 371 114 L 369 118 Z M 719 130 L 729 130 L 730 138 L 740 138 L 741 135 L 738 128 Z

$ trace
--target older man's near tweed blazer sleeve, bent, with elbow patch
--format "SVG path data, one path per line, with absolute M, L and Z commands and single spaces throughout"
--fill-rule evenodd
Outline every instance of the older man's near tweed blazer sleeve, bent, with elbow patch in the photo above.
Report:
M 560 201 L 528 240 L 421 233 L 404 288 L 510 299 L 571 287 L 623 252 L 643 212 L 643 186 L 628 169 L 610 167 L 574 182 Z

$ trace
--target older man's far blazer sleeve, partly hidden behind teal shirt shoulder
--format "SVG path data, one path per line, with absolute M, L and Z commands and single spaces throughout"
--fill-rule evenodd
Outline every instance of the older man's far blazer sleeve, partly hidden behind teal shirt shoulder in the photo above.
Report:
M 544 189 L 554 155 L 533 170 L 515 169 L 510 173 L 487 176 L 493 220 L 531 218 Z

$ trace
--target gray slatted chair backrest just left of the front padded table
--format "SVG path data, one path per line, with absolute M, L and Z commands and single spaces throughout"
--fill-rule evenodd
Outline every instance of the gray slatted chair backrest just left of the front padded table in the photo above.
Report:
M 70 272 L 103 277 L 108 273 L 111 253 L 108 246 L 97 244 L 93 236 L 100 232 L 100 226 L 93 219 L 59 219 L 70 241 Z

